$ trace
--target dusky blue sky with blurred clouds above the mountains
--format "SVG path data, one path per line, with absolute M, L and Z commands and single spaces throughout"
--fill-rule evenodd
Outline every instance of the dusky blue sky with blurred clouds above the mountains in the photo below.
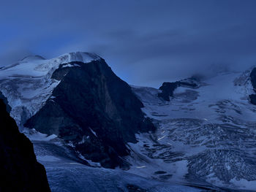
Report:
M 36 54 L 101 55 L 133 85 L 256 64 L 256 1 L 1 1 L 1 65 Z

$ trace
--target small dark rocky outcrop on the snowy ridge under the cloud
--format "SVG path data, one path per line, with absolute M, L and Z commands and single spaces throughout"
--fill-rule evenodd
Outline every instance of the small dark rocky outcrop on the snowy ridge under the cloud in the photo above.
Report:
M 163 82 L 159 90 L 162 93 L 158 93 L 158 96 L 165 101 L 170 101 L 170 96 L 173 97 L 173 91 L 178 87 L 187 87 L 187 88 L 198 88 L 200 86 L 201 76 L 195 75 L 190 78 L 179 80 L 176 82 Z

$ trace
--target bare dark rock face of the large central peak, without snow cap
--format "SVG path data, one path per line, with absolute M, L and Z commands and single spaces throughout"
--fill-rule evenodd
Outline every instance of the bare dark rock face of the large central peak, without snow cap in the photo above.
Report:
M 138 132 L 154 131 L 129 85 L 102 58 L 61 64 L 51 78 L 59 85 L 24 126 L 58 135 L 102 166 L 127 166 L 121 158 L 129 154 L 126 143 L 136 142 Z

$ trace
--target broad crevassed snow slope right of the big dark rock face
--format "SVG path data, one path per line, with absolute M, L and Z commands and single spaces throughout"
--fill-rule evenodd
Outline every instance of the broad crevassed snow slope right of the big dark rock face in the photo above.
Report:
M 256 107 L 249 103 L 250 71 L 221 73 L 199 82 L 199 88 L 179 87 L 170 102 L 159 99 L 157 89 L 133 87 L 143 112 L 158 129 L 129 144 L 135 157 L 128 158 L 133 164 L 129 172 L 256 191 Z M 138 166 L 143 166 L 140 172 Z M 159 171 L 162 174 L 156 174 Z

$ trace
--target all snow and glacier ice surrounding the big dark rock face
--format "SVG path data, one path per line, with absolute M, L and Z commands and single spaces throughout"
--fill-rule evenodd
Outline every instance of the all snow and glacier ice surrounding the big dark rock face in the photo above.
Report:
M 137 134 L 138 142 L 127 144 L 128 170 L 104 169 L 56 135 L 23 127 L 59 84 L 50 78 L 56 69 L 98 59 L 81 52 L 52 59 L 29 56 L 0 68 L 0 91 L 12 107 L 10 115 L 34 143 L 52 191 L 256 191 L 252 68 L 204 78 L 196 88 L 180 86 L 170 101 L 158 97 L 159 89 L 131 85 L 157 131 Z

